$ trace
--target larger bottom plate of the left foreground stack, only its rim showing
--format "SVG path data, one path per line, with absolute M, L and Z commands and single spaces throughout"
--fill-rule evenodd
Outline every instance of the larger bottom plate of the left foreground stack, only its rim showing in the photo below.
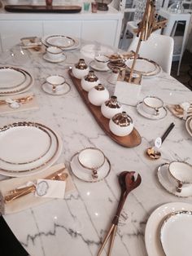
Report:
M 8 125 L 9 126 L 9 125 Z M 11 176 L 11 177 L 20 177 L 25 175 L 34 174 L 41 170 L 45 170 L 46 168 L 53 165 L 53 163 L 58 159 L 63 143 L 62 139 L 55 133 L 54 130 L 51 130 L 49 127 L 41 125 L 39 123 L 34 122 L 18 122 L 14 123 L 11 126 L 39 126 L 42 129 L 46 130 L 46 133 L 50 135 L 51 145 L 46 154 L 37 161 L 33 161 L 30 163 L 18 165 L 18 164 L 10 164 L 0 160 L 0 174 Z M 7 126 L 4 126 L 3 129 L 6 129 Z M 28 143 L 28 150 L 30 148 L 30 143 Z M 38 144 L 37 144 L 38 146 Z

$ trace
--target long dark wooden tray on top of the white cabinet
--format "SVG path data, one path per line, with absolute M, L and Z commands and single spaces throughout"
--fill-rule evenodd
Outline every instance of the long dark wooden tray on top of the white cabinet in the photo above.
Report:
M 57 12 L 57 13 L 76 13 L 81 11 L 79 6 L 32 6 L 32 5 L 6 5 L 6 11 L 11 12 Z

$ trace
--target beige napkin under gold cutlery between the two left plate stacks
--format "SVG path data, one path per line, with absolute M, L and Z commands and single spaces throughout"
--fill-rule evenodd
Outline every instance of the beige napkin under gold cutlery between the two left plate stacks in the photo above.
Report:
M 18 101 L 19 106 L 17 106 L 17 104 L 15 104 L 14 106 L 14 103 L 12 103 L 12 101 L 14 100 L 15 102 Z M 36 96 L 33 95 L 33 92 L 25 92 L 18 95 L 1 96 L 1 99 L 0 99 L 0 115 L 26 111 L 26 110 L 33 110 L 38 108 L 39 106 L 37 104 L 37 99 L 36 99 Z

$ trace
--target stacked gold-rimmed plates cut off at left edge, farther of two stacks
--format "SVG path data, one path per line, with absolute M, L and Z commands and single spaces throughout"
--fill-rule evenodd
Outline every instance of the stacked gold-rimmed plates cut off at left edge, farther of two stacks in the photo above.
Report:
M 15 95 L 33 86 L 34 79 L 22 68 L 0 67 L 0 95 Z

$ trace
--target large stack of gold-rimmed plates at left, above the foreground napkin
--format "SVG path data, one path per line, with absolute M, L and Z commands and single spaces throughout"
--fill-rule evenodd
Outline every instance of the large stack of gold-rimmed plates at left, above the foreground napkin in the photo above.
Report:
M 49 127 L 16 122 L 0 129 L 0 174 L 20 177 L 52 166 L 62 151 L 62 140 Z

